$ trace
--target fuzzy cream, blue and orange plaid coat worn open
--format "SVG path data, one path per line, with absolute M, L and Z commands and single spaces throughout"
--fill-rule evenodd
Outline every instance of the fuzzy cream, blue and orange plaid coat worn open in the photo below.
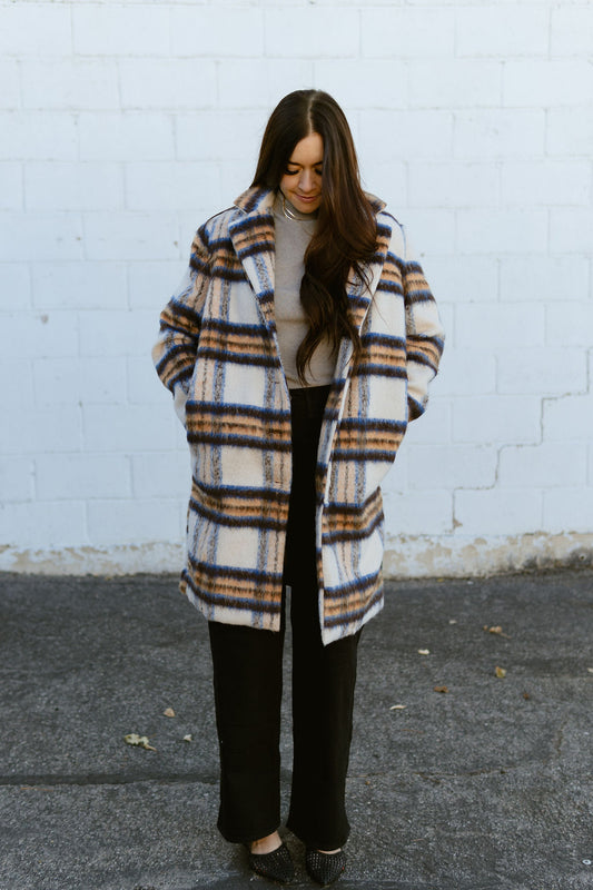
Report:
M 152 356 L 191 453 L 180 586 L 211 621 L 278 630 L 290 492 L 290 399 L 274 319 L 274 192 L 251 188 L 197 231 Z M 383 605 L 379 484 L 421 415 L 443 349 L 435 301 L 402 226 L 373 199 L 370 285 L 348 288 L 363 357 L 345 339 L 317 464 L 324 643 Z

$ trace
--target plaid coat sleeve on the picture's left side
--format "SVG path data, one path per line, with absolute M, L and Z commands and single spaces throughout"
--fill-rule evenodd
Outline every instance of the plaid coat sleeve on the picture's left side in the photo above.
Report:
M 191 244 L 189 266 L 160 314 L 152 360 L 162 384 L 170 389 L 179 419 L 185 424 L 186 402 L 196 364 L 201 313 L 209 281 L 209 250 L 202 226 Z

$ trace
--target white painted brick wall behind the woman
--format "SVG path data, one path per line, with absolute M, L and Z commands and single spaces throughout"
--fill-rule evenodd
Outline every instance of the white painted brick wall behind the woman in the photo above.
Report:
M 592 47 L 586 0 L 0 0 L 0 568 L 178 567 L 158 313 L 309 86 L 447 328 L 385 485 L 389 570 L 591 554 Z

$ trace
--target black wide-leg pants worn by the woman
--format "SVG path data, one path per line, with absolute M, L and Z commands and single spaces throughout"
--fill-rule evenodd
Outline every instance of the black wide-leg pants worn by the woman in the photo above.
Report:
M 315 466 L 328 387 L 291 390 L 293 484 L 285 585 L 293 629 L 293 783 L 288 828 L 307 846 L 342 847 L 359 633 L 322 643 L 315 553 Z M 228 841 L 280 823 L 279 633 L 210 622 L 220 744 L 218 828 Z

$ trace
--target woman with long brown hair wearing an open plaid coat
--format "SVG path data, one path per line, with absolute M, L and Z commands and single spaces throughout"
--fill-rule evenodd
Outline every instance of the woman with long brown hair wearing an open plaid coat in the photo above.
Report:
M 384 207 L 360 188 L 335 100 L 286 96 L 250 188 L 198 230 L 154 348 L 191 452 L 181 589 L 209 621 L 218 827 L 279 881 L 294 874 L 278 834 L 288 591 L 286 824 L 325 886 L 345 866 L 360 629 L 383 605 L 379 483 L 443 348 L 423 271 Z

